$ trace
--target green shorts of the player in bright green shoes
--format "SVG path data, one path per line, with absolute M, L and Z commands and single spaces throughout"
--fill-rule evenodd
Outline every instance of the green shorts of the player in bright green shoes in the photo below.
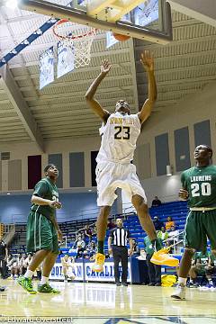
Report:
M 27 220 L 26 247 L 28 253 L 41 249 L 59 253 L 57 230 L 51 220 L 37 211 L 31 211 Z

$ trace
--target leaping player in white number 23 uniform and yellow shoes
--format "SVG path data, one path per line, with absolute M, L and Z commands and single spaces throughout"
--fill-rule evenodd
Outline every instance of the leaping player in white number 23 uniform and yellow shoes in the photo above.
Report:
M 101 207 L 96 222 L 98 253 L 95 256 L 93 266 L 93 270 L 97 272 L 103 271 L 103 242 L 106 234 L 107 218 L 112 203 L 117 197 L 115 194 L 116 188 L 123 189 L 130 196 L 142 228 L 147 232 L 156 250 L 161 249 L 156 230 L 148 214 L 147 198 L 139 183 L 136 166 L 131 163 L 141 125 L 148 119 L 157 98 L 154 60 L 149 56 L 148 51 L 141 55 L 140 62 L 148 74 L 148 99 L 143 104 L 140 112 L 130 114 L 129 103 L 125 100 L 119 100 L 116 103 L 115 112 L 110 113 L 104 110 L 94 99 L 98 85 L 111 69 L 111 64 L 107 60 L 103 61 L 101 73 L 95 78 L 85 94 L 86 103 L 103 121 L 100 129 L 102 143 L 96 158 L 97 204 Z M 157 252 L 154 254 L 153 259 L 157 263 L 167 265 L 170 257 Z

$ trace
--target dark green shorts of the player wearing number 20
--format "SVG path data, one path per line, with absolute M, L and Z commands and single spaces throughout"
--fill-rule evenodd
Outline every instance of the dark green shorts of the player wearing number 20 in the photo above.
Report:
M 216 249 L 216 210 L 190 211 L 185 224 L 184 246 L 206 251 L 207 237 L 211 250 Z

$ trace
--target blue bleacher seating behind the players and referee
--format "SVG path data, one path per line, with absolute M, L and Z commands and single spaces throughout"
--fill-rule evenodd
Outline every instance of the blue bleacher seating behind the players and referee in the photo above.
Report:
M 175 220 L 176 229 L 182 231 L 184 229 L 185 219 L 187 215 L 187 203 L 186 202 L 165 202 L 159 207 L 149 208 L 149 213 L 151 218 L 158 216 L 164 223 L 168 216 L 171 216 Z M 139 247 L 144 247 L 143 238 L 146 233 L 141 228 L 139 224 L 139 219 L 136 213 L 113 215 L 113 218 L 123 217 L 124 226 L 130 229 L 130 234 L 132 238 L 136 238 L 139 243 Z M 86 220 L 70 220 L 59 224 L 60 229 L 63 232 L 63 236 L 67 236 L 67 248 L 61 248 L 63 253 L 68 252 L 68 249 L 73 245 L 73 241 L 76 238 L 76 231 L 83 229 L 86 224 L 93 224 L 96 219 L 86 219 Z M 11 253 L 24 253 L 25 252 L 25 235 L 26 235 L 26 225 L 19 224 L 16 225 L 16 238 L 14 244 L 10 248 Z M 105 251 L 107 251 L 107 239 L 109 236 L 109 231 L 107 230 L 106 239 L 104 243 Z

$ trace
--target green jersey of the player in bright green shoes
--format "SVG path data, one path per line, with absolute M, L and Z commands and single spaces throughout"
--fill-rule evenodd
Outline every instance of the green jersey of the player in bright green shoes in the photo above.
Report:
M 49 178 L 41 179 L 34 187 L 34 195 L 40 198 L 49 199 L 50 201 L 58 202 L 58 188 L 56 184 L 53 184 Z M 49 205 L 38 205 L 33 203 L 31 206 L 31 211 L 37 211 L 43 216 L 47 217 L 49 220 L 53 220 L 56 217 L 56 209 L 50 207 Z

